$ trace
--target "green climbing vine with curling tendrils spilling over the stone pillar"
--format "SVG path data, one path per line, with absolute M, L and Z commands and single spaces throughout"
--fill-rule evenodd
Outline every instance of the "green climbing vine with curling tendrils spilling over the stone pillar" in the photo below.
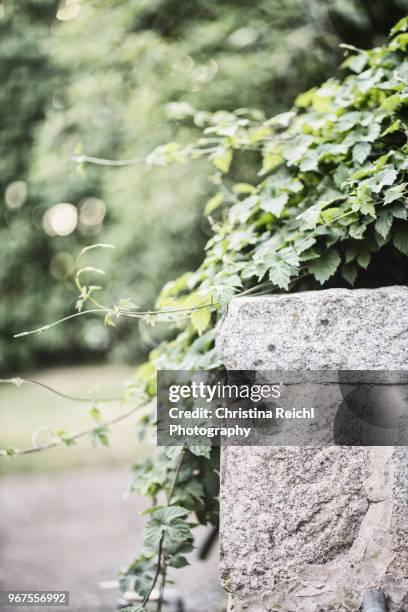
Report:
M 350 74 L 343 81 L 330 79 L 301 94 L 289 112 L 272 118 L 249 109 L 196 113 L 183 104 L 184 120 L 201 127 L 202 136 L 161 146 L 147 163 L 211 162 L 215 193 L 205 212 L 213 236 L 202 265 L 167 283 L 157 310 L 144 313 L 129 300 L 112 307 L 97 300 L 100 287 L 83 278 L 101 270 L 76 272 L 75 316 L 99 312 L 107 325 L 121 316 L 152 324 L 159 318 L 173 330 L 139 369 L 137 393 L 128 390 L 126 402 L 137 407 L 155 396 L 157 369 L 220 367 L 215 336 L 234 296 L 407 282 L 407 49 L 405 18 L 388 45 L 345 46 Z M 259 161 L 258 174 L 232 183 L 231 167 L 245 168 L 247 156 Z M 91 416 L 100 419 L 99 410 Z M 154 419 L 154 413 L 141 418 L 141 436 Z M 102 421 L 92 431 L 106 441 Z M 58 443 L 76 439 L 56 435 Z M 133 612 L 145 610 L 153 589 L 162 594 L 169 567 L 187 563 L 192 527 L 217 524 L 218 465 L 216 448 L 192 446 L 162 449 L 154 461 L 134 466 L 131 490 L 149 497 L 151 508 L 140 556 L 121 576 L 122 588 L 142 598 Z

